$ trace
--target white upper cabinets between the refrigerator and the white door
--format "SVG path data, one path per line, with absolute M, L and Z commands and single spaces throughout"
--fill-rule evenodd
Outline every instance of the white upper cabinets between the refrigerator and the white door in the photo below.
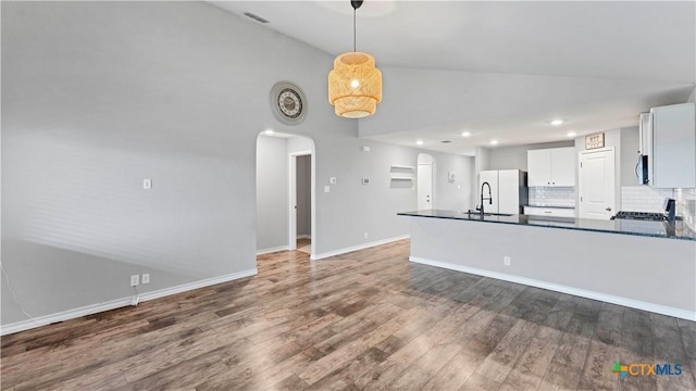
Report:
M 552 148 L 526 152 L 530 187 L 575 186 L 575 148 Z

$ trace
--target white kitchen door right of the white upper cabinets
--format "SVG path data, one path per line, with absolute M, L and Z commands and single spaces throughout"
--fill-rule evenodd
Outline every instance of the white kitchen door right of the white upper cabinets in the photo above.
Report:
M 609 219 L 616 211 L 613 149 L 580 153 L 580 218 Z

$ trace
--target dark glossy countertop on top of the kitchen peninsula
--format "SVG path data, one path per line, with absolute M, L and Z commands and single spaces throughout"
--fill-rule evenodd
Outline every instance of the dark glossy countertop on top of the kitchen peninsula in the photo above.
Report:
M 484 216 L 478 214 L 468 214 L 467 212 L 446 210 L 422 210 L 413 212 L 397 213 L 399 216 L 431 217 L 460 219 L 481 223 L 513 224 L 525 226 L 538 226 L 560 229 L 586 230 L 593 232 L 608 232 L 620 235 L 646 236 L 654 238 L 681 239 L 696 241 L 696 231 L 686 226 L 683 222 L 643 222 L 631 219 L 599 220 L 589 218 L 572 217 L 546 217 L 546 216 Z

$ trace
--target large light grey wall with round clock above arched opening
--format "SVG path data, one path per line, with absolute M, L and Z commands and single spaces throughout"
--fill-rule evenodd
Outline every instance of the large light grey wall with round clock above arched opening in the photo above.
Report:
M 150 273 L 148 293 L 252 273 L 268 128 L 313 139 L 318 189 L 338 178 L 316 193 L 318 253 L 409 234 L 396 213 L 415 191 L 389 189 L 388 172 L 419 150 L 360 140 L 334 114 L 330 54 L 201 2 L 1 7 L 1 257 L 32 316 L 121 302 L 132 274 Z M 278 80 L 304 90 L 302 124 L 273 116 Z M 3 326 L 26 319 L 5 283 L 1 304 Z

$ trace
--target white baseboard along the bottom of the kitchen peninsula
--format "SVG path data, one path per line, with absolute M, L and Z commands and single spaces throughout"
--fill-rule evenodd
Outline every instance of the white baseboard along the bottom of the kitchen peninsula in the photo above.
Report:
M 521 283 L 530 287 L 547 289 L 555 292 L 568 293 L 568 294 L 572 294 L 572 295 L 576 295 L 585 299 L 598 300 L 598 301 L 602 301 L 611 304 L 623 305 L 631 308 L 648 311 L 648 312 L 673 316 L 673 317 L 678 317 L 686 320 L 696 320 L 696 312 L 694 311 L 687 311 L 687 310 L 682 310 L 682 308 L 676 308 L 676 307 L 671 307 L 671 306 L 666 306 L 666 305 L 660 305 L 655 303 L 648 303 L 639 300 L 633 300 L 633 299 L 627 299 L 623 297 L 617 297 L 612 294 L 606 294 L 601 292 L 567 287 L 567 286 L 552 283 L 552 282 L 546 282 L 546 281 L 542 281 L 533 278 L 519 277 L 519 276 L 508 275 L 508 274 L 498 273 L 498 272 L 492 272 L 492 270 L 480 269 L 475 267 L 451 264 L 448 262 L 422 258 L 418 256 L 409 256 L 409 261 L 423 264 L 423 265 L 435 266 L 435 267 L 446 268 L 450 270 L 495 278 L 504 281 Z

